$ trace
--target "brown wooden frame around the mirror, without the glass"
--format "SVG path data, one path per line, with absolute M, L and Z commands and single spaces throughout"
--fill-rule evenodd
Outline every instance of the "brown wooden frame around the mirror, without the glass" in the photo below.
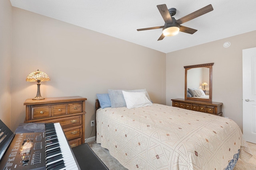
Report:
M 197 100 L 197 101 L 208 101 L 212 102 L 212 66 L 214 63 L 206 63 L 206 64 L 197 64 L 191 66 L 184 66 L 185 68 L 185 100 Z M 200 99 L 200 98 L 190 98 L 187 97 L 187 72 L 191 68 L 199 68 L 199 67 L 206 67 L 209 68 L 209 99 Z

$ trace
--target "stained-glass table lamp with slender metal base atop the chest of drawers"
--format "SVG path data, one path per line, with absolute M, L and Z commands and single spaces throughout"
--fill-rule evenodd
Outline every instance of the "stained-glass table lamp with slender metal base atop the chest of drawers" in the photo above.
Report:
M 42 72 L 42 71 L 34 71 L 30 74 L 28 74 L 27 78 L 26 78 L 27 82 L 37 82 L 37 94 L 36 97 L 33 98 L 32 100 L 41 100 L 44 99 L 41 94 L 40 94 L 40 82 L 46 82 L 46 81 L 50 81 L 50 77 Z

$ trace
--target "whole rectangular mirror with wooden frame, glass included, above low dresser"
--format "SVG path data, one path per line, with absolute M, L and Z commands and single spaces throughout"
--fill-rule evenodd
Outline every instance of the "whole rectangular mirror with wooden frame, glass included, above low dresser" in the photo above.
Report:
M 184 66 L 185 100 L 212 102 L 212 66 L 214 63 Z

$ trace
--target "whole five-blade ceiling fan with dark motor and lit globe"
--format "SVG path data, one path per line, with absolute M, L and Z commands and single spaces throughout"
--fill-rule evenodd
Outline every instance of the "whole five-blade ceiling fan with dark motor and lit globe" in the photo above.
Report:
M 184 33 L 189 33 L 193 34 L 197 30 L 189 27 L 185 27 L 183 25 L 180 25 L 182 23 L 185 23 L 187 21 L 193 20 L 194 18 L 197 18 L 199 16 L 202 16 L 208 12 L 211 12 L 213 10 L 212 5 L 205 6 L 204 8 L 201 8 L 195 12 L 192 12 L 191 14 L 188 14 L 178 20 L 176 20 L 173 16 L 176 14 L 176 8 L 170 8 L 168 10 L 166 4 L 162 5 L 157 5 L 157 8 L 162 15 L 162 18 L 164 19 L 164 26 L 158 26 L 158 27 L 149 27 L 149 28 L 142 28 L 142 29 L 137 29 L 137 31 L 144 31 L 144 30 L 149 30 L 149 29 L 158 29 L 162 28 L 163 33 L 159 37 L 159 40 L 164 39 L 165 36 L 173 36 L 178 34 L 179 31 L 182 31 Z

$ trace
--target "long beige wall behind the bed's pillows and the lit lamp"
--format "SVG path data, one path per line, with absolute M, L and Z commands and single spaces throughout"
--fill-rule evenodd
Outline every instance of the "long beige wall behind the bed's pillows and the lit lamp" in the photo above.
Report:
M 12 129 L 24 121 L 24 101 L 36 96 L 36 83 L 25 79 L 37 69 L 51 79 L 41 83 L 43 97 L 88 99 L 86 138 L 97 93 L 146 88 L 153 102 L 166 104 L 165 53 L 19 8 L 12 34 Z

